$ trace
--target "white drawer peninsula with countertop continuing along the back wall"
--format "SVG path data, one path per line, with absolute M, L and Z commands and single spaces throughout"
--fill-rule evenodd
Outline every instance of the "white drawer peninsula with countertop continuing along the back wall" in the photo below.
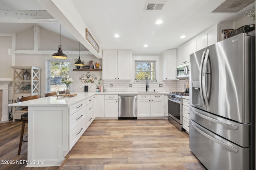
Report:
M 62 164 L 66 154 L 96 117 L 94 111 L 96 95 L 134 92 L 76 93 L 77 96 L 74 97 L 50 96 L 8 105 L 28 106 L 28 165 L 26 167 Z M 145 94 L 144 92 L 135 93 Z M 152 93 L 165 94 L 167 100 L 168 92 Z

